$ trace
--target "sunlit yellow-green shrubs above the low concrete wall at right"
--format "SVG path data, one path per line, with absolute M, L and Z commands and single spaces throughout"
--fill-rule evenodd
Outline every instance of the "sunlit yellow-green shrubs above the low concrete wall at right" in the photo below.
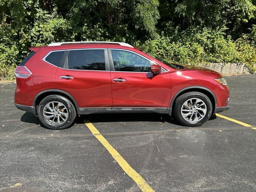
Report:
M 225 37 L 224 30 L 190 28 L 180 33 L 176 42 L 162 34 L 141 46 L 169 62 L 193 65 L 202 62 L 245 63 L 255 73 L 256 46 L 246 36 L 236 41 Z

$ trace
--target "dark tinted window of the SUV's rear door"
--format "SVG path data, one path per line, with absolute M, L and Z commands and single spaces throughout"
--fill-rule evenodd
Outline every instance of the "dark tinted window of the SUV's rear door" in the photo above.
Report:
M 104 71 L 104 50 L 70 50 L 64 68 Z

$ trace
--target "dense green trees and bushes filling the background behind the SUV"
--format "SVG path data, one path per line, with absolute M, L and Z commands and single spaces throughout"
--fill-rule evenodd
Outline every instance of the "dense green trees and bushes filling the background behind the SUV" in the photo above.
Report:
M 0 0 L 0 78 L 31 46 L 107 40 L 183 64 L 244 62 L 256 72 L 252 0 Z

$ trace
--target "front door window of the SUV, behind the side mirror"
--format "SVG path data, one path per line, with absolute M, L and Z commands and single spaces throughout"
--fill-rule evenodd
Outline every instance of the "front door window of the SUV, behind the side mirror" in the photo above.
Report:
M 123 50 L 111 50 L 115 71 L 124 72 L 150 72 L 153 64 L 149 60 L 135 53 Z

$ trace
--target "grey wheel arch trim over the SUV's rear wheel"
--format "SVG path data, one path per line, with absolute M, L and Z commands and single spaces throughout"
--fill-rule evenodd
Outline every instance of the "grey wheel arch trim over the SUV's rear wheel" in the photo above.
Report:
M 38 93 L 33 101 L 33 106 L 35 107 L 35 110 L 36 110 L 36 107 L 38 106 L 38 104 L 40 103 L 40 101 L 49 95 L 61 95 L 61 96 L 66 97 L 68 100 L 70 100 L 74 104 L 74 106 L 76 108 L 76 112 L 77 112 L 78 104 L 76 103 L 76 100 L 74 99 L 74 97 L 72 95 L 70 95 L 69 93 L 59 90 L 59 89 L 48 89 L 48 90 L 44 90 L 44 91 Z

